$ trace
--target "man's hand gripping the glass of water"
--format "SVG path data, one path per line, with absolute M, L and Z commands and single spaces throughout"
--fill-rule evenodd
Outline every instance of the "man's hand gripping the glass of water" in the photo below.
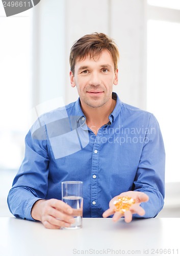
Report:
M 41 221 L 44 227 L 59 229 L 70 227 L 74 222 L 72 208 L 58 199 L 38 200 L 32 208 L 31 216 Z

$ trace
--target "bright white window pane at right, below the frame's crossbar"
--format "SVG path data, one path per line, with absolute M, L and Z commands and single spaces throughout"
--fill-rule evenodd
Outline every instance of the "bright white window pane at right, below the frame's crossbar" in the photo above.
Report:
M 155 114 L 163 134 L 166 150 L 166 182 L 180 181 L 179 46 L 180 24 L 148 21 L 147 110 Z

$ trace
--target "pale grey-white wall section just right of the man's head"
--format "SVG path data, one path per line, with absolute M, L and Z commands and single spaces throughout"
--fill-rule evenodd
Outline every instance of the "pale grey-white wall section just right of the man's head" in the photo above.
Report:
M 113 0 L 111 36 L 120 51 L 119 85 L 122 101 L 146 108 L 146 1 Z

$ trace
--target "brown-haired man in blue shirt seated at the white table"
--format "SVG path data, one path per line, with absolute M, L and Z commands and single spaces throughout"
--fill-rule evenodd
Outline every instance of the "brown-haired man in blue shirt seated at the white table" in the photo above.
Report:
M 25 138 L 25 157 L 8 196 L 16 217 L 46 228 L 70 226 L 61 181 L 84 182 L 84 217 L 126 222 L 156 217 L 164 204 L 165 152 L 156 118 L 113 93 L 119 53 L 103 33 L 80 38 L 70 52 L 70 82 L 80 98 L 39 117 Z M 116 211 L 119 197 L 135 200 Z

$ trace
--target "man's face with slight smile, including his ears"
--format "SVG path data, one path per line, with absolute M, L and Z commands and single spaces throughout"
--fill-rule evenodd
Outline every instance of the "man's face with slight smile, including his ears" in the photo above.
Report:
M 111 104 L 113 84 L 118 83 L 118 70 L 108 50 L 100 55 L 76 60 L 74 74 L 70 71 L 71 86 L 77 88 L 82 106 L 99 108 Z

